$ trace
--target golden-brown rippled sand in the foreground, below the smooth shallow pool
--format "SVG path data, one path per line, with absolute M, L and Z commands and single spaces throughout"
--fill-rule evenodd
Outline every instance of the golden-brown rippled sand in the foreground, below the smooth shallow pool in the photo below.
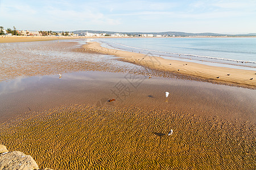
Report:
M 0 141 L 53 169 L 253 169 L 255 126 L 111 105 L 65 105 L 1 124 Z M 167 133 L 174 130 L 171 136 Z

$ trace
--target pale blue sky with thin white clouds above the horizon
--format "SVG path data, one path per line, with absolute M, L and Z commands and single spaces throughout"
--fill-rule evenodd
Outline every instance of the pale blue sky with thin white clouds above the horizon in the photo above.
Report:
M 256 33 L 256 0 L 0 0 L 0 26 L 28 31 Z

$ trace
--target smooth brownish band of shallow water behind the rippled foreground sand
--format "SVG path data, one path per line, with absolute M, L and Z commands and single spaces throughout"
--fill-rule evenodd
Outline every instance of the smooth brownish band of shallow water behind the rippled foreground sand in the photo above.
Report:
M 170 92 L 166 98 L 164 92 Z M 115 99 L 112 103 L 107 102 Z M 199 116 L 255 124 L 256 91 L 207 82 L 132 73 L 84 71 L 61 78 L 33 76 L 0 83 L 0 117 L 15 117 L 63 104 L 175 109 Z

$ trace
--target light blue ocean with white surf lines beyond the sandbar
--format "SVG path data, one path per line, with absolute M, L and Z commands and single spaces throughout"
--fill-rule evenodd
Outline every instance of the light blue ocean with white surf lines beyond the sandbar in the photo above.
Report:
M 256 70 L 255 37 L 175 37 L 97 39 L 102 46 L 167 59 Z

